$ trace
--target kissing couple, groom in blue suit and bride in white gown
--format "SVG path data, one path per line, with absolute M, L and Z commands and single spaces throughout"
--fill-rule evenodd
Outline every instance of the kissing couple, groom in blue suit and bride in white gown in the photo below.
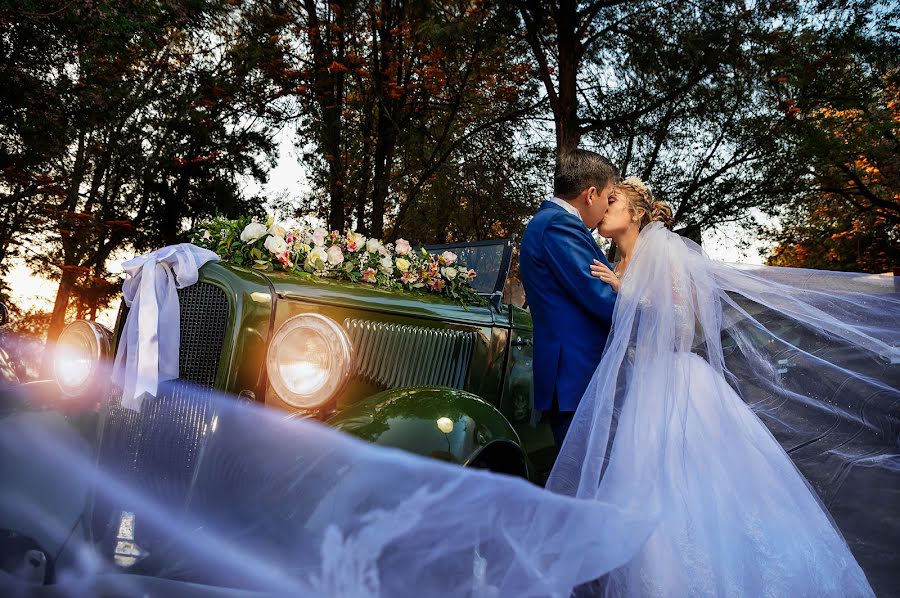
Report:
M 522 237 L 534 407 L 560 450 L 547 488 L 652 521 L 637 554 L 587 593 L 873 595 L 723 357 L 722 333 L 743 313 L 725 291 L 776 307 L 791 293 L 713 262 L 671 221 L 639 179 L 575 150 L 557 159 L 554 197 Z M 616 243 L 615 267 L 595 228 Z M 793 313 L 816 313 L 807 307 Z M 747 353 L 762 373 L 762 354 Z

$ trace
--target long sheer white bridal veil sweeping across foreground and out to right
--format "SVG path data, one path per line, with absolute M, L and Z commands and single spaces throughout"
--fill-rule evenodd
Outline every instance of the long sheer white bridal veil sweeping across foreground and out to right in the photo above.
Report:
M 202 430 L 208 438 L 187 506 L 150 496 L 127 471 L 98 466 L 93 439 L 72 432 L 63 416 L 39 412 L 0 419 L 2 465 L 14 471 L 0 511 L 54 547 L 56 580 L 76 594 L 203 595 L 225 587 L 279 595 L 567 596 L 610 572 L 615 581 L 672 501 L 690 500 L 720 475 L 716 467 L 736 465 L 726 458 L 733 444 L 774 445 L 758 431 L 723 437 L 735 417 L 753 429 L 740 420 L 746 415 L 717 403 L 728 392 L 802 464 L 826 505 L 863 492 L 860 469 L 896 485 L 900 299 L 893 285 L 877 276 L 716 263 L 653 223 L 641 232 L 605 356 L 549 490 L 204 394 L 214 415 Z M 685 360 L 693 365 L 685 369 Z M 692 388 L 684 372 L 694 368 L 715 376 Z M 697 400 L 675 400 L 684 396 Z M 698 454 L 704 448 L 721 459 Z M 673 478 L 692 460 L 710 469 Z M 736 497 L 794 471 L 787 460 L 746 467 L 748 486 L 732 488 Z M 792 500 L 805 488 L 778 498 Z M 877 512 L 892 498 L 865 500 Z M 122 521 L 109 545 L 90 533 L 99 504 L 118 505 Z M 781 513 L 791 505 L 769 506 Z M 715 504 L 700 507 L 714 516 Z M 833 529 L 825 511 L 820 517 L 801 523 Z M 843 558 L 846 545 L 835 538 L 809 548 Z M 846 567 L 848 583 L 858 582 Z M 762 581 L 749 571 L 735 583 Z

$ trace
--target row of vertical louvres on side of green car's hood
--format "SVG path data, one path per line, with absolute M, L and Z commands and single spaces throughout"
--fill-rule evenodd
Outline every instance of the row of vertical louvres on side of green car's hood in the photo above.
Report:
M 348 319 L 360 378 L 385 388 L 463 388 L 475 332 Z

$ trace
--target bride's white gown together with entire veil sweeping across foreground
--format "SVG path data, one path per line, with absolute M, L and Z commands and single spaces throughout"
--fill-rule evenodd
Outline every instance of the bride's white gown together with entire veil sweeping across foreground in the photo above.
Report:
M 822 413 L 894 442 L 900 391 L 879 368 L 900 362 L 900 300 L 878 281 L 816 290 L 817 276 L 718 264 L 646 227 L 549 491 L 199 393 L 188 505 L 98 466 L 62 416 L 4 411 L 0 472 L 15 476 L 0 527 L 57 555 L 68 595 L 871 596 L 754 413 L 778 421 L 772 406 L 790 404 L 807 413 L 780 420 L 792 430 Z M 159 279 L 172 282 L 165 268 Z M 96 504 L 128 522 L 115 545 L 139 555 L 137 570 L 91 537 Z

